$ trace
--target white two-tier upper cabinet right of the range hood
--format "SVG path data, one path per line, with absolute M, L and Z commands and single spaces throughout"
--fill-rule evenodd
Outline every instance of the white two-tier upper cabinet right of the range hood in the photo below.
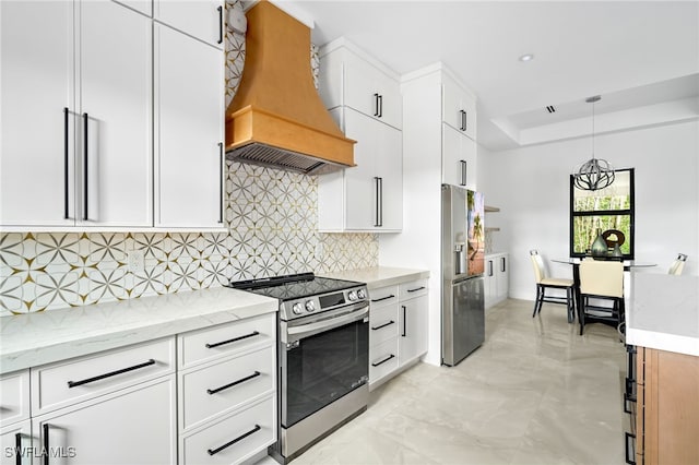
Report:
M 323 103 L 357 141 L 357 166 L 318 178 L 321 231 L 395 233 L 403 227 L 402 100 L 398 80 L 343 39 L 320 51 Z

